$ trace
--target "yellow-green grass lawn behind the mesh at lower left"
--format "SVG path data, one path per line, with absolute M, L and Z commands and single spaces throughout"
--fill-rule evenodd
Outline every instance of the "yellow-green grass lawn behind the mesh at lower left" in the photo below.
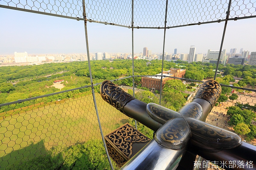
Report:
M 104 135 L 128 119 L 99 93 L 96 100 Z M 62 150 L 94 138 L 101 136 L 92 94 L 5 117 L 0 120 L 0 170 L 57 146 Z

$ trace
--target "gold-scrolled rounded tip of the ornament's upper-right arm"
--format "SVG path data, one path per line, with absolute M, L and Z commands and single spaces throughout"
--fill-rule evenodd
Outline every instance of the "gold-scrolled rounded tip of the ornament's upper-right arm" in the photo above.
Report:
M 200 98 L 208 101 L 212 107 L 215 105 L 217 100 L 220 97 L 221 93 L 221 86 L 220 84 L 215 80 L 208 80 L 205 81 L 198 91 L 196 92 L 196 95 L 194 99 Z

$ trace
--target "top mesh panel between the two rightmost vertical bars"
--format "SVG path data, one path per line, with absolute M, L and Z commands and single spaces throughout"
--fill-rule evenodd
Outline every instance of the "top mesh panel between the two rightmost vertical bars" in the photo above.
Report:
M 168 1 L 167 26 L 182 26 L 225 19 L 228 1 Z

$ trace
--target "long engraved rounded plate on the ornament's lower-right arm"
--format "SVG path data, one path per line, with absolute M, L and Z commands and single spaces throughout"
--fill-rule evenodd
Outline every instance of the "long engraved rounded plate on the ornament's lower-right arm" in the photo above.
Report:
M 241 138 L 233 132 L 193 118 L 186 118 L 186 121 L 190 126 L 192 138 L 207 147 L 228 149 L 241 144 Z

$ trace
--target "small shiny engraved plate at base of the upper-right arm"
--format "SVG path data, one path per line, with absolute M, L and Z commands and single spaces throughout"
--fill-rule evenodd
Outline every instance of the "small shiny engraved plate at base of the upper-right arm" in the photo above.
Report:
M 203 109 L 198 103 L 191 102 L 182 107 L 179 113 L 184 117 L 192 117 L 199 120 L 203 115 Z

